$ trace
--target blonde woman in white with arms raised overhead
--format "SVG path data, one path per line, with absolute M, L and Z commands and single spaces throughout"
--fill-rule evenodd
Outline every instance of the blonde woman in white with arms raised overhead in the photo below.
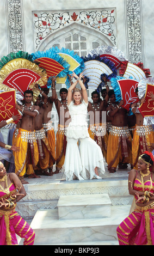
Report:
M 66 180 L 73 178 L 79 180 L 93 179 L 94 176 L 101 179 L 98 172 L 101 174 L 105 172 L 101 148 L 90 138 L 88 133 L 88 96 L 81 80 L 82 74 L 78 77 L 73 73 L 72 77 L 77 78 L 77 81 L 70 86 L 67 94 L 71 122 L 66 131 L 67 147 L 64 163 Z M 77 82 L 79 82 L 81 90 L 76 88 Z M 78 140 L 80 141 L 80 151 L 77 144 Z

